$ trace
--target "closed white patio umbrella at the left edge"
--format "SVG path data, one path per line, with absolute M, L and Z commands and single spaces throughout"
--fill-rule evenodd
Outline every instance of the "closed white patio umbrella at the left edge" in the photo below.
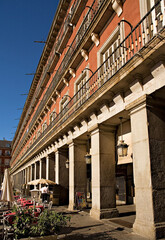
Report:
M 13 189 L 12 189 L 12 184 L 10 181 L 10 175 L 9 175 L 8 169 L 5 169 L 5 172 L 4 172 L 1 200 L 4 202 L 14 201 L 14 194 L 13 194 Z

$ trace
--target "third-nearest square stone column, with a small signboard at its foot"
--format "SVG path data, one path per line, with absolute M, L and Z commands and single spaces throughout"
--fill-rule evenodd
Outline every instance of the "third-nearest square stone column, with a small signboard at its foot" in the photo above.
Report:
M 74 141 L 69 145 L 69 209 L 75 207 L 76 192 L 87 191 L 86 142 Z

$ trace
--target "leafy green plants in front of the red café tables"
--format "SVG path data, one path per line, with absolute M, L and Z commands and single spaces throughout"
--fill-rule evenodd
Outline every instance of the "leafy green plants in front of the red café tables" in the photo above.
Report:
M 34 211 L 35 208 L 16 210 L 13 225 L 15 239 L 49 239 L 50 235 L 51 239 L 57 239 L 58 231 L 70 221 L 70 217 L 50 210 L 44 210 L 35 218 Z

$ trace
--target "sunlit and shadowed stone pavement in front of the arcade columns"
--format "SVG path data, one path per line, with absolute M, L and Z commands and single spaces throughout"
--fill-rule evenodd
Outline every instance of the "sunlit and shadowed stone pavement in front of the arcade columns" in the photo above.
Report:
M 66 227 L 63 232 L 59 233 L 58 239 L 146 240 L 146 238 L 132 232 L 132 228 L 130 227 L 132 226 L 131 222 L 134 220 L 131 214 L 128 214 L 129 216 L 123 216 L 124 220 L 122 220 L 122 224 L 128 224 L 128 227 L 125 227 L 117 223 L 119 218 L 116 219 L 116 222 L 112 222 L 111 220 L 113 219 L 95 220 L 85 211 L 69 212 L 64 207 L 55 207 L 53 209 L 58 212 L 65 212 L 67 215 L 71 216 L 69 226 Z

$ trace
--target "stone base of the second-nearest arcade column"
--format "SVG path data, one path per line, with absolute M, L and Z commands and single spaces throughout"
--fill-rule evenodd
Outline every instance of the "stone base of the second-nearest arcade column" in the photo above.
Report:
M 91 209 L 91 217 L 95 219 L 104 219 L 104 218 L 115 218 L 119 216 L 119 211 L 117 208 L 107 208 L 107 209 Z

